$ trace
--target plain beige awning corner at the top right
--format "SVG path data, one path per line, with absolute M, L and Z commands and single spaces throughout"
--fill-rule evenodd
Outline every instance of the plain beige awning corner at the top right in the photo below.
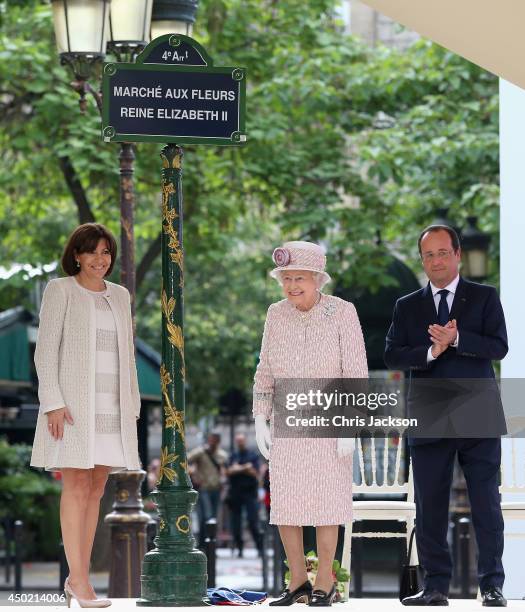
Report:
M 524 0 L 361 0 L 525 89 Z

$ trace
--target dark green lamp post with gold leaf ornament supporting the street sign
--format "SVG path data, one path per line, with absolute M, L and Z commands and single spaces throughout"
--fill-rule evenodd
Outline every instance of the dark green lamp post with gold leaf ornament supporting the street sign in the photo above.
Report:
M 195 21 L 197 0 L 155 0 L 152 38 L 168 27 L 186 34 Z M 182 31 L 181 31 L 182 30 Z M 205 605 L 206 556 L 195 548 L 191 512 L 198 493 L 187 471 L 184 433 L 184 253 L 182 246 L 182 149 L 166 145 L 162 159 L 162 363 L 164 413 L 161 465 L 152 497 L 160 517 L 155 548 L 144 557 L 138 606 Z

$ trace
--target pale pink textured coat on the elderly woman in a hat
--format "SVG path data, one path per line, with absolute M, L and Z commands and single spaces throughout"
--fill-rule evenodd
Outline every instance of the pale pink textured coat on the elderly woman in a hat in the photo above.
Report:
M 253 414 L 271 418 L 276 378 L 367 378 L 355 307 L 321 295 L 306 313 L 288 300 L 268 309 L 253 388 Z M 270 523 L 339 525 L 352 519 L 352 458 L 340 459 L 335 438 L 272 436 Z

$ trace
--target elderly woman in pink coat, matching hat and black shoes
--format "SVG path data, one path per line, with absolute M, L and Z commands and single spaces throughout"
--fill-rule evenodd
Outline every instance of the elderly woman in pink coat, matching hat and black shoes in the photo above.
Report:
M 350 302 L 321 292 L 330 280 L 322 248 L 287 242 L 275 249 L 271 276 L 284 300 L 268 309 L 253 393 L 257 444 L 270 465 L 270 523 L 278 525 L 290 583 L 270 605 L 307 601 L 329 606 L 335 597 L 332 563 L 338 526 L 352 519 L 352 452 L 349 439 L 271 439 L 274 381 L 278 378 L 367 378 L 363 335 Z M 271 448 L 270 448 L 271 446 Z M 307 578 L 303 525 L 316 527 L 319 569 Z

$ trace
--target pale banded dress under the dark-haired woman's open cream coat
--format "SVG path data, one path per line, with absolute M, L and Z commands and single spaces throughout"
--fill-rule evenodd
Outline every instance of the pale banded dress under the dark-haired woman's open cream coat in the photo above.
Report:
M 126 465 L 120 422 L 117 327 L 106 291 L 83 289 L 95 302 L 97 321 L 94 464 L 108 465 L 116 471 Z

